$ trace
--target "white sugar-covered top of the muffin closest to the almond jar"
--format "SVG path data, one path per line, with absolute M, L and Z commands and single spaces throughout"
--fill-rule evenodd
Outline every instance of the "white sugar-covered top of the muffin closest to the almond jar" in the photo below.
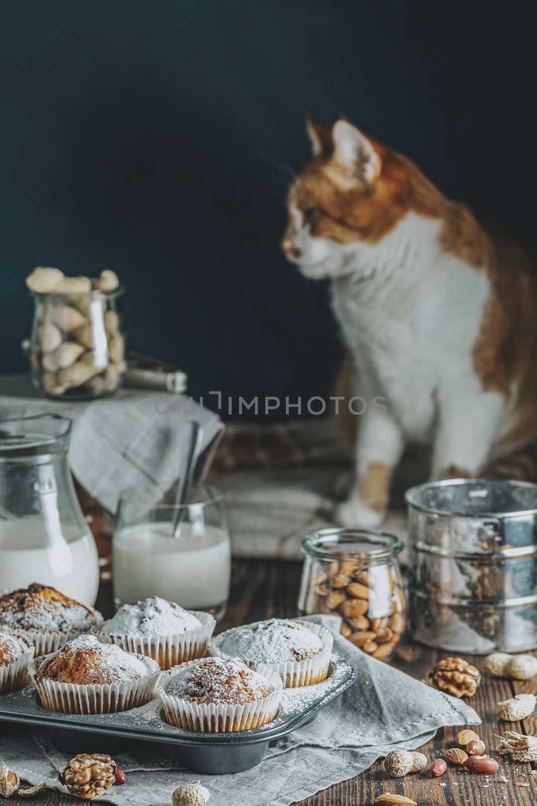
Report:
M 304 623 L 271 618 L 230 629 L 219 648 L 257 663 L 285 663 L 312 658 L 323 646 L 322 639 Z

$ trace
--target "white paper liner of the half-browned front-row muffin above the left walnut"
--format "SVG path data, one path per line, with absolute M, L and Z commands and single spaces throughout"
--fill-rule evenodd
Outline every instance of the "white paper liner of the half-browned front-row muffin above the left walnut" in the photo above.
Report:
M 145 655 L 137 657 L 146 664 L 147 675 L 126 683 L 78 685 L 59 683 L 57 680 L 36 679 L 35 672 L 40 665 L 36 661 L 30 663 L 28 671 L 41 704 L 48 711 L 83 714 L 117 713 L 145 705 L 153 696 L 155 683 L 160 674 L 159 665 Z M 45 659 L 39 660 L 43 663 Z

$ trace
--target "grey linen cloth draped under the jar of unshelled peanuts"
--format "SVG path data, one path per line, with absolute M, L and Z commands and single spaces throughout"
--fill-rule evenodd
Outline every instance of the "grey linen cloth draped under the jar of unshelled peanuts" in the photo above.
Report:
M 73 419 L 72 473 L 112 513 L 123 490 L 143 487 L 148 491 L 148 505 L 153 505 L 162 496 L 162 488 L 177 480 L 190 418 L 203 427 L 201 476 L 224 428 L 217 414 L 184 395 L 120 389 L 114 397 L 101 400 L 53 401 L 39 395 L 28 376 L 0 377 L 0 418 L 43 413 Z

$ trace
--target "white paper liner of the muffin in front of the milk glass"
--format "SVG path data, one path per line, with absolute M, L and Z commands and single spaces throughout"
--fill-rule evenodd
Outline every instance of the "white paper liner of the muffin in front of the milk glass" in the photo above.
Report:
M 100 631 L 93 632 L 93 635 L 103 644 L 116 644 L 126 652 L 146 655 L 166 671 L 207 654 L 207 643 L 217 621 L 210 613 L 201 610 L 188 610 L 188 613 L 201 621 L 201 626 L 178 635 L 111 635 Z

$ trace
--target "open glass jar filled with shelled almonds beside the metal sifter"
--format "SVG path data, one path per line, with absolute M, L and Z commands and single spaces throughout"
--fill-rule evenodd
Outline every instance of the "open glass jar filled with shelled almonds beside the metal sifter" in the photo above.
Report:
M 403 543 L 393 534 L 324 529 L 302 542 L 306 557 L 299 613 L 343 619 L 341 634 L 354 646 L 388 660 L 407 625 L 407 601 L 399 568 Z

